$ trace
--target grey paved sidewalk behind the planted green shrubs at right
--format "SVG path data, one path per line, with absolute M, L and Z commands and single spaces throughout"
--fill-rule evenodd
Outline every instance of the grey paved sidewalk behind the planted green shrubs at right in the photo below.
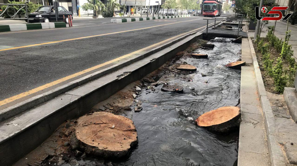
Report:
M 261 37 L 265 37 L 268 32 L 269 26 L 274 26 L 275 21 L 269 21 L 268 25 L 266 25 L 261 32 Z M 286 35 L 286 29 L 287 29 L 287 21 L 277 21 L 277 24 L 275 26 L 274 35 L 276 35 L 278 38 L 285 38 Z M 291 31 L 291 37 L 289 40 L 289 44 L 292 45 L 292 50 L 294 51 L 294 58 L 297 62 L 297 25 L 291 25 L 289 22 L 288 30 Z M 264 33 L 263 33 L 264 32 Z M 262 35 L 263 34 L 263 35 Z M 265 36 L 264 36 L 265 35 Z

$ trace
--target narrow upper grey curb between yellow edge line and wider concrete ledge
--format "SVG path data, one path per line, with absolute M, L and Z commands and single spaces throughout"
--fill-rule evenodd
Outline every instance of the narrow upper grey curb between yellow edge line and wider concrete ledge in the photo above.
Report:
M 67 92 L 68 90 L 70 89 L 73 89 L 75 87 L 78 87 L 82 84 L 85 84 L 87 82 L 90 82 L 94 79 L 97 79 L 99 77 L 102 77 L 103 75 L 105 74 L 108 74 L 108 73 L 111 73 L 113 71 L 116 71 L 124 66 L 127 66 L 129 64 L 132 64 L 136 61 L 139 61 L 140 59 L 143 59 L 147 56 L 150 56 L 152 55 L 153 53 L 156 53 L 158 51 L 161 51 L 162 49 L 170 46 L 170 45 L 173 45 L 174 43 L 177 43 L 178 41 L 180 40 L 183 40 L 184 38 L 190 36 L 190 35 L 193 35 L 195 34 L 196 32 L 192 32 L 192 33 L 189 33 L 187 35 L 184 35 L 180 38 L 177 38 L 176 40 L 173 40 L 173 41 L 170 41 L 164 45 L 161 45 L 157 48 L 154 48 L 150 51 L 147 51 L 147 52 L 144 52 L 144 53 L 141 53 L 133 58 L 129 58 L 125 61 L 122 61 L 121 63 L 118 63 L 118 64 L 115 64 L 115 65 L 112 65 L 108 68 L 105 68 L 105 69 L 102 69 L 100 71 L 97 71 L 97 72 L 94 72 L 92 74 L 89 74 L 85 77 L 82 77 L 80 79 L 77 79 L 77 80 L 74 80 L 72 82 L 69 82 L 67 84 L 64 84 L 60 87 L 57 87 L 55 89 L 52 89 L 48 92 L 45 92 L 45 93 L 42 93 L 40 95 L 37 95 L 37 96 L 34 96 L 34 97 L 31 97 L 30 99 L 27 99 L 25 101 L 22 101 L 22 102 L 19 102 L 18 104 L 15 104 L 15 105 L 12 105 L 8 108 L 5 108 L 3 110 L 0 110 L 0 122 L 1 121 L 4 121 L 8 118 L 11 118 L 15 115 L 18 115 L 19 113 L 22 113 L 30 108 L 33 108 L 43 102 L 46 102 L 48 100 L 51 100 L 53 99 L 54 97 L 58 96 L 58 95 L 61 95 L 62 93 L 64 92 Z

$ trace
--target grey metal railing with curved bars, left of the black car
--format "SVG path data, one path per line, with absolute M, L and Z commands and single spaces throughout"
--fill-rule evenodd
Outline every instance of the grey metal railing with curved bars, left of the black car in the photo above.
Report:
M 6 12 L 7 15 L 10 17 L 10 18 L 6 18 L 6 19 L 27 19 L 27 22 L 29 23 L 29 19 L 28 19 L 28 4 L 29 2 L 26 1 L 25 4 L 0 4 L 0 6 L 2 5 L 7 5 L 6 8 L 4 9 L 4 11 L 0 14 L 0 17 L 2 15 L 4 15 L 4 13 Z M 23 6 L 21 7 L 20 9 L 18 9 L 18 11 L 15 11 L 15 8 L 13 6 Z M 25 8 L 25 11 L 26 11 L 26 18 L 15 18 L 15 16 L 18 14 L 18 12 L 20 12 L 21 9 Z M 13 11 L 14 14 L 11 15 L 11 13 L 8 12 L 8 10 L 10 9 L 10 12 Z M 11 18 L 12 17 L 12 18 Z M 1 19 L 1 20 L 6 20 L 6 19 Z

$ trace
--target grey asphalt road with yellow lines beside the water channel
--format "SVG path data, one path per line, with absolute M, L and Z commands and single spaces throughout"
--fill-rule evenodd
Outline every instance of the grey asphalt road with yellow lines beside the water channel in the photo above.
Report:
M 227 15 L 222 15 L 224 16 Z M 206 26 L 206 20 L 203 18 L 205 17 L 184 17 L 128 23 L 110 23 L 110 18 L 74 19 L 74 26 L 71 28 L 2 32 L 0 33 L 0 101 Z M 100 36 L 88 37 L 93 35 Z M 71 40 L 80 37 L 88 38 Z M 70 41 L 41 44 L 60 40 Z M 41 45 L 27 47 L 33 44 Z M 20 46 L 25 46 L 25 48 L 2 50 Z M 78 79 L 78 77 L 61 84 Z M 43 89 L 9 104 L 0 105 L 0 109 L 56 86 Z

